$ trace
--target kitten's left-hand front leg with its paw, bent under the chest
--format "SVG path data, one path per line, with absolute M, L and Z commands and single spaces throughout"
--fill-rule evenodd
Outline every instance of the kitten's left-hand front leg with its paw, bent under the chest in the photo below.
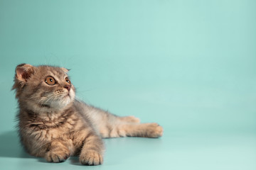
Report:
M 68 159 L 73 152 L 72 142 L 68 142 L 61 140 L 53 140 L 53 142 L 50 142 L 48 152 L 45 154 L 46 161 L 57 163 L 64 162 L 65 159 Z

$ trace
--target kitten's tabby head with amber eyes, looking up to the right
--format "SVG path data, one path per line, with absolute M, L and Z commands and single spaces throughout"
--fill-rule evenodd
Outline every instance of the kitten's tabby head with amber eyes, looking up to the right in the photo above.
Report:
M 75 88 L 68 78 L 68 69 L 46 65 L 16 67 L 13 89 L 20 107 L 33 111 L 55 111 L 75 99 Z

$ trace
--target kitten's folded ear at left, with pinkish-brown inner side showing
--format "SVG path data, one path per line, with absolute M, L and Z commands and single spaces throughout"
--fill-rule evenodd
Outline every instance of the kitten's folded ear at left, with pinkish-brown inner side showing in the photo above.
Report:
M 16 79 L 18 81 L 27 81 L 34 72 L 34 67 L 30 64 L 19 64 L 16 67 Z

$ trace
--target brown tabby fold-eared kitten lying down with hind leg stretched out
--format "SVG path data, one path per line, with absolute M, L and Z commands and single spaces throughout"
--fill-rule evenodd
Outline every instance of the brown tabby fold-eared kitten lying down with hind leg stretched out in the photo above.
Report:
M 75 99 L 68 69 L 19 64 L 13 89 L 18 99 L 18 132 L 26 151 L 48 162 L 79 155 L 80 163 L 103 162 L 108 137 L 161 137 L 157 123 L 139 123 Z

